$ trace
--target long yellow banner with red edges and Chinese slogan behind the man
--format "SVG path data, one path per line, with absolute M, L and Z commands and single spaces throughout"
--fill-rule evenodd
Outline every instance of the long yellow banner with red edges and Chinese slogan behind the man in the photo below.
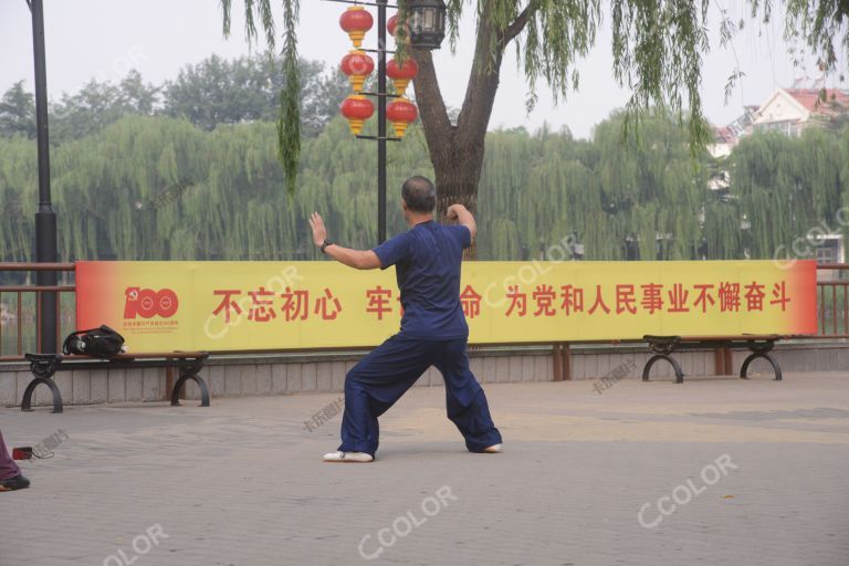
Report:
M 77 326 L 107 324 L 132 352 L 374 346 L 400 324 L 394 269 L 81 262 L 76 273 Z M 472 343 L 816 332 L 814 262 L 468 262 L 461 291 Z M 675 296 L 689 311 L 674 312 Z

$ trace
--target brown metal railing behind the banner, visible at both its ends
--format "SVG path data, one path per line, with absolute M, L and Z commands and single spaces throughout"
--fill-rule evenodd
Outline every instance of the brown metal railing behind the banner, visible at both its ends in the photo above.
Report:
M 817 265 L 817 334 L 799 336 L 799 338 L 849 338 L 849 263 L 820 264 Z M 0 263 L 0 274 L 36 271 L 74 272 L 75 264 Z M 75 294 L 76 286 L 73 284 L 54 286 L 0 285 L 0 308 L 7 306 L 3 303 L 3 297 L 10 294 L 14 295 L 11 305 L 15 308 L 14 313 L 4 308 L 0 310 L 0 361 L 19 361 L 23 359 L 24 349 L 27 349 L 24 347 L 24 336 L 34 336 L 36 350 L 41 350 L 40 304 L 42 293 L 56 293 L 56 319 L 61 321 L 63 303 L 61 297 L 64 293 Z M 24 316 L 24 306 L 30 304 L 24 301 L 24 296 L 28 294 L 34 295 L 35 298 L 32 302 L 34 304 L 34 316 Z M 75 304 L 73 300 L 71 304 Z M 34 325 L 34 332 L 32 328 L 27 327 L 28 324 Z M 9 326 L 15 329 L 14 335 L 17 339 L 14 340 L 14 347 L 11 348 L 13 352 L 9 352 L 10 348 L 3 347 L 3 336 L 9 335 Z M 61 324 L 56 324 L 56 344 L 62 344 L 61 326 Z M 594 343 L 598 344 L 597 340 Z M 579 343 L 572 342 L 570 344 Z M 502 344 L 501 346 L 510 346 L 510 344 Z M 522 346 L 527 346 L 527 344 L 522 344 Z

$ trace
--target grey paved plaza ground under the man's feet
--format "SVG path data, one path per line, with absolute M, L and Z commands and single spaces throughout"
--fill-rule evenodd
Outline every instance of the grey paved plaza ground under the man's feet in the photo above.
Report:
M 371 464 L 321 461 L 334 394 L 0 409 L 59 443 L 0 494 L 0 566 L 849 565 L 849 376 L 593 386 L 488 385 L 502 454 L 416 388 Z

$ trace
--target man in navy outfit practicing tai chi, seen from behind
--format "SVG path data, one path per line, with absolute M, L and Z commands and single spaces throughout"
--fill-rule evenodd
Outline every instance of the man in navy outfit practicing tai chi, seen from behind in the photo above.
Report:
M 460 226 L 433 221 L 437 190 L 423 177 L 403 184 L 403 218 L 412 227 L 374 250 L 359 251 L 327 240 L 322 217 L 310 219 L 322 252 L 358 270 L 396 266 L 401 290 L 401 331 L 363 358 L 345 379 L 342 446 L 325 462 L 370 462 L 378 446 L 377 418 L 436 366 L 446 380 L 448 418 L 472 452 L 501 452 L 501 433 L 490 417 L 486 396 L 469 370 L 469 326 L 460 306 L 460 263 L 478 231 L 462 205 L 448 209 Z

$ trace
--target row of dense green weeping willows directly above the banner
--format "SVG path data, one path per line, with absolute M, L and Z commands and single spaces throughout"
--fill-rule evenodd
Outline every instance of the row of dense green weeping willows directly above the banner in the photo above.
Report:
M 821 223 L 840 228 L 849 206 L 849 129 L 799 138 L 745 138 L 719 166 L 693 161 L 688 133 L 648 114 L 640 139 L 625 143 L 622 113 L 591 140 L 568 132 L 493 132 L 480 185 L 479 258 L 532 258 L 577 231 L 588 260 L 621 260 L 625 239 L 640 258 L 693 259 L 702 238 L 710 259 L 772 258 Z M 371 124 L 374 127 L 374 124 Z M 374 132 L 368 130 L 368 134 Z M 322 212 L 334 241 L 369 248 L 377 240 L 377 150 L 353 138 L 340 117 L 304 140 L 297 193 L 277 160 L 272 122 L 219 126 L 186 119 L 125 117 L 53 150 L 60 256 L 119 260 L 318 259 L 307 216 Z M 0 260 L 31 259 L 38 203 L 35 144 L 0 138 Z M 731 170 L 732 191 L 708 189 L 710 171 Z M 389 233 L 406 230 L 398 195 L 411 175 L 433 175 L 415 126 L 389 146 Z M 704 210 L 704 223 L 700 212 Z M 752 223 L 751 241 L 741 230 Z M 660 253 L 657 237 L 662 241 Z

